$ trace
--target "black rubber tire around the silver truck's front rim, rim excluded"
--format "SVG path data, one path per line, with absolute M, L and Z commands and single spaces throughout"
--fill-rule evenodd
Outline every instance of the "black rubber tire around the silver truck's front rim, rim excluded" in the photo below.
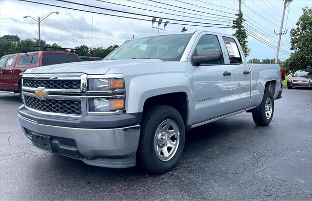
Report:
M 154 149 L 154 138 L 157 128 L 165 120 L 173 120 L 179 129 L 179 144 L 173 157 L 161 161 Z M 143 113 L 140 140 L 137 149 L 137 165 L 143 170 L 156 174 L 172 169 L 182 155 L 185 142 L 185 127 L 180 113 L 173 107 L 156 105 Z

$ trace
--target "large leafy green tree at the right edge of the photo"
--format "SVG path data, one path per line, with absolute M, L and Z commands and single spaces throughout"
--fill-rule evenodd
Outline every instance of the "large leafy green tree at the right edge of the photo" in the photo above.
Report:
M 312 68 L 312 7 L 306 6 L 302 11 L 297 27 L 290 32 L 291 50 L 294 53 L 282 65 L 287 72 Z

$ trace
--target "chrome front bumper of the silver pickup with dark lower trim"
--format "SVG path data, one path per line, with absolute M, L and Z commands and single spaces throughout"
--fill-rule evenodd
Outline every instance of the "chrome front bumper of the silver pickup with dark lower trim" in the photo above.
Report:
M 124 128 L 73 128 L 40 124 L 19 114 L 20 125 L 32 143 L 33 135 L 46 136 L 51 150 L 86 164 L 125 168 L 136 165 L 140 125 Z

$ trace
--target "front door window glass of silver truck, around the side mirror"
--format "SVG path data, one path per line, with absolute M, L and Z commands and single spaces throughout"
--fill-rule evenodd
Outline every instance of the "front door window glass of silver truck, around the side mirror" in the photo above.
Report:
M 218 38 L 215 35 L 202 36 L 197 42 L 193 56 L 200 54 L 203 50 L 220 50 L 222 52 Z M 202 64 L 224 64 L 223 55 L 217 60 L 208 61 Z

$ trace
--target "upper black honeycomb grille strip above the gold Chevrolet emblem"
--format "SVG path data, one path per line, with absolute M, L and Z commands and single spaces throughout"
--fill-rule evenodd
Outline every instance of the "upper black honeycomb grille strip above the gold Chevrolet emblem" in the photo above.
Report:
M 64 90 L 79 90 L 80 80 L 58 80 L 58 79 L 23 79 L 24 87 L 46 89 L 64 89 Z

